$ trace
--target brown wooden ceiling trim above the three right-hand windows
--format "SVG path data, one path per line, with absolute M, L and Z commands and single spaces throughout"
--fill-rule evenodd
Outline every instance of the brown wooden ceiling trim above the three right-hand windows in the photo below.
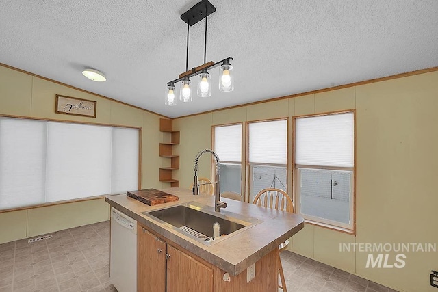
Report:
M 192 117 L 192 116 L 198 116 L 198 115 L 202 115 L 202 114 L 209 114 L 209 113 L 213 113 L 216 111 L 224 111 L 226 109 L 235 109 L 237 107 L 246 107 L 248 105 L 257 105 L 260 103 L 269 103 L 270 101 L 281 101 L 282 99 L 286 99 L 286 98 L 296 98 L 296 97 L 300 97 L 300 96 L 305 96 L 305 95 L 309 95 L 309 94 L 316 94 L 316 93 L 321 93 L 321 92 L 329 92 L 329 91 L 333 91 L 333 90 L 339 90 L 342 88 L 350 88 L 353 86 L 359 86 L 359 85 L 365 85 L 365 84 L 370 84 L 370 83 L 376 83 L 376 82 L 381 82 L 381 81 L 387 81 L 387 80 L 391 80 L 391 79 L 398 79 L 398 78 L 403 78 L 403 77 L 409 77 L 409 76 L 413 76 L 413 75 L 420 75 L 420 74 L 424 74 L 424 73 L 429 73 L 429 72 L 435 72 L 438 71 L 438 67 L 430 67 L 430 68 L 426 68 L 426 69 L 420 69 L 420 70 L 415 70 L 415 71 L 411 71 L 411 72 L 404 72 L 404 73 L 400 73 L 400 74 L 396 74 L 396 75 L 390 75 L 390 76 L 386 76 L 386 77 L 379 77 L 379 78 L 375 78 L 375 79 L 369 79 L 369 80 L 365 80 L 365 81 L 358 81 L 355 83 L 348 83 L 348 84 L 344 84 L 344 85 L 337 85 L 331 88 L 322 88 L 322 89 L 318 89 L 318 90 L 312 90 L 312 91 L 308 91 L 308 92 L 302 92 L 302 93 L 297 93 L 297 94 L 291 94 L 291 95 L 286 95 L 286 96 L 280 96 L 280 97 L 276 97 L 276 98 L 270 98 L 270 99 L 265 99 L 263 101 L 255 101 L 253 103 L 244 103 L 242 105 L 233 105 L 232 107 L 224 107 L 222 109 L 213 109 L 211 111 L 203 111 L 201 113 L 197 113 L 197 114 L 190 114 L 190 115 L 186 115 L 186 116 L 180 116 L 177 118 L 173 118 L 173 120 L 177 120 L 179 118 L 188 118 L 188 117 Z

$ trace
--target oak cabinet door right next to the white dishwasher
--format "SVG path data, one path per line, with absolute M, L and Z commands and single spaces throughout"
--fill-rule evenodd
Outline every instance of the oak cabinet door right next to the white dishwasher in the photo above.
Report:
M 166 243 L 138 224 L 137 291 L 166 291 Z

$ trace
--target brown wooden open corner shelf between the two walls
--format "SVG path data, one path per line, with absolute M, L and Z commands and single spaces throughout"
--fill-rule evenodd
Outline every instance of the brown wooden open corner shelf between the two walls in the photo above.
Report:
M 160 118 L 159 131 L 170 133 L 170 142 L 159 144 L 159 156 L 170 158 L 170 166 L 159 168 L 158 179 L 170 183 L 170 187 L 179 187 L 179 181 L 172 178 L 172 170 L 179 169 L 179 155 L 173 154 L 173 146 L 179 144 L 179 131 L 172 130 L 172 120 Z

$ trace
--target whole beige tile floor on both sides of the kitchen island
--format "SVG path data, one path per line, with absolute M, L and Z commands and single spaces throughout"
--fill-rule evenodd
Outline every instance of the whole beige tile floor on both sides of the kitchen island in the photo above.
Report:
M 116 292 L 110 284 L 109 221 L 51 235 L 0 245 L 0 292 Z M 394 291 L 287 250 L 281 263 L 288 291 Z

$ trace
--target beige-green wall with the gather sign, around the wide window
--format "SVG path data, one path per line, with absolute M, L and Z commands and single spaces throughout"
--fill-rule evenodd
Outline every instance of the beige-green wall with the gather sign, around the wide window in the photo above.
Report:
M 96 118 L 55 114 L 55 94 L 97 101 Z M 4 66 L 0 66 L 0 115 L 142 128 L 142 188 L 169 186 L 158 181 L 158 168 L 165 163 L 158 152 L 163 138 L 158 115 Z M 0 243 L 109 219 L 104 199 L 0 213 Z

